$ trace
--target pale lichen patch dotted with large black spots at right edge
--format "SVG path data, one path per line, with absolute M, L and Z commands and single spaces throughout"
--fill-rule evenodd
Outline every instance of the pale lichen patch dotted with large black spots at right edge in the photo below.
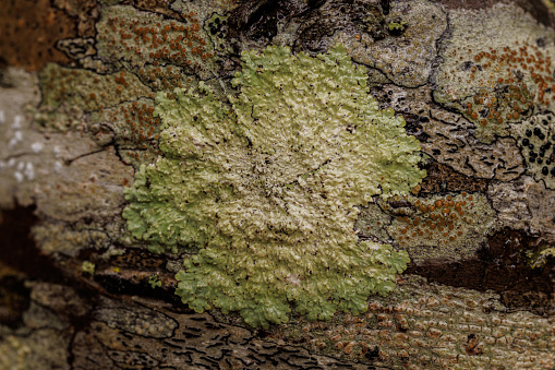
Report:
M 553 114 L 535 115 L 512 124 L 511 135 L 522 152 L 527 170 L 536 181 L 555 189 L 555 119 Z

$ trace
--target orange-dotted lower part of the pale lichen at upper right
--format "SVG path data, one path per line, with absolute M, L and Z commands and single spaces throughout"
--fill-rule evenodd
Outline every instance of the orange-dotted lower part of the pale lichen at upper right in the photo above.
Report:
M 475 53 L 471 48 L 458 48 L 449 57 L 458 60 L 459 55 L 462 61 L 451 67 L 445 80 L 466 85 L 451 99 L 475 123 L 483 142 L 506 135 L 509 122 L 526 119 L 534 105 L 547 107 L 555 98 L 552 59 L 535 45 L 516 43 Z M 459 94 L 471 97 L 457 102 Z

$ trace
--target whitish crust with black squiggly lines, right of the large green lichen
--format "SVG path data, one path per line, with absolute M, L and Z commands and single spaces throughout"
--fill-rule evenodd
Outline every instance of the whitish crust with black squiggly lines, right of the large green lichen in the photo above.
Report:
M 480 143 L 473 134 L 472 123 L 463 116 L 435 107 L 432 86 L 414 89 L 381 85 L 371 92 L 384 107 L 387 104 L 396 111 L 403 112 L 407 132 L 421 141 L 423 153 L 472 178 L 471 182 L 464 180 L 459 186 L 478 184 L 483 179 L 508 182 L 524 172 L 522 156 L 511 138 L 498 138 L 490 145 Z M 429 183 L 435 183 L 439 191 L 457 189 L 445 187 L 444 180 L 427 180 Z

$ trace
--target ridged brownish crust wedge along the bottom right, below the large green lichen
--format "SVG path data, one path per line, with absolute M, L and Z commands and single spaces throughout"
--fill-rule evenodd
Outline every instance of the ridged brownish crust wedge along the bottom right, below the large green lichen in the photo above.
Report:
M 492 290 L 405 275 L 389 297 L 372 297 L 362 315 L 314 323 L 300 318 L 270 329 L 268 338 L 370 368 L 553 369 L 553 319 L 507 310 Z

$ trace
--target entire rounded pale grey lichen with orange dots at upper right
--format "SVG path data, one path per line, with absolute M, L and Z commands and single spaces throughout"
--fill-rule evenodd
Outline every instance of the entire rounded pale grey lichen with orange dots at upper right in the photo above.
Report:
M 491 144 L 510 123 L 552 108 L 552 47 L 547 28 L 515 5 L 498 3 L 450 15 L 453 36 L 441 48 L 436 102 L 474 123 Z M 534 40 L 534 41 L 532 41 Z

